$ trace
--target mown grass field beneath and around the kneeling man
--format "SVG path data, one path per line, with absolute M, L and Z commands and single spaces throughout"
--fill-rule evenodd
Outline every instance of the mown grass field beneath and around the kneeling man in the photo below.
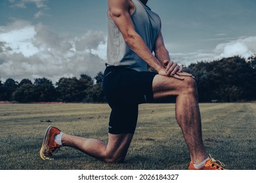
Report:
M 228 169 L 255 170 L 256 103 L 200 104 L 207 152 Z M 0 104 L 0 169 L 186 169 L 190 161 L 174 104 L 140 105 L 137 131 L 124 163 L 108 164 L 63 147 L 54 161 L 39 150 L 48 125 L 107 142 L 106 104 Z

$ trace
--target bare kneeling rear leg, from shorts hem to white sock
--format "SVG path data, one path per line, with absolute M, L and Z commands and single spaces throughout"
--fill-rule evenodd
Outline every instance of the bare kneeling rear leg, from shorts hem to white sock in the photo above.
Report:
M 133 134 L 114 135 L 108 133 L 108 144 L 96 139 L 86 139 L 64 134 L 62 144 L 81 150 L 85 154 L 109 163 L 125 159 Z

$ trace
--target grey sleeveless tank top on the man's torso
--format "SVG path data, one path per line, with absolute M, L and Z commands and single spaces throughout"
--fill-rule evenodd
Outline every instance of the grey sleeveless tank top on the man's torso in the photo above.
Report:
M 142 37 L 148 48 L 153 52 L 154 44 L 161 29 L 161 20 L 158 14 L 140 0 L 131 0 L 135 10 L 131 19 L 135 31 Z M 108 48 L 106 66 L 123 66 L 136 71 L 147 71 L 147 63 L 141 59 L 125 43 L 123 35 L 117 28 L 112 18 L 108 18 Z

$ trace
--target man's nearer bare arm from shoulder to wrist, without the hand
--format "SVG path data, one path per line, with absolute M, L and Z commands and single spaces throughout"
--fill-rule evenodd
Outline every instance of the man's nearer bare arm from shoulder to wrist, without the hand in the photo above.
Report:
M 121 31 L 127 45 L 148 65 L 156 69 L 158 73 L 165 71 L 160 61 L 150 52 L 143 39 L 135 31 L 129 8 L 131 4 L 128 0 L 108 0 L 108 16 Z M 164 72 L 162 72 L 164 74 Z M 166 75 L 166 74 L 165 74 Z

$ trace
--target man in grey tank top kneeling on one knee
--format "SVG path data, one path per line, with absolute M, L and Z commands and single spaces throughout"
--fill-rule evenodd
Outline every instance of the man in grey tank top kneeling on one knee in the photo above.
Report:
M 203 146 L 194 77 L 170 60 L 160 18 L 146 6 L 147 1 L 108 0 L 108 60 L 103 82 L 112 108 L 108 144 L 67 135 L 50 126 L 40 151 L 42 159 L 53 159 L 54 150 L 63 145 L 102 161 L 121 162 L 135 133 L 138 105 L 176 96 L 177 122 L 190 151 L 188 169 L 223 169 L 207 156 Z M 148 65 L 158 73 L 147 72 Z

